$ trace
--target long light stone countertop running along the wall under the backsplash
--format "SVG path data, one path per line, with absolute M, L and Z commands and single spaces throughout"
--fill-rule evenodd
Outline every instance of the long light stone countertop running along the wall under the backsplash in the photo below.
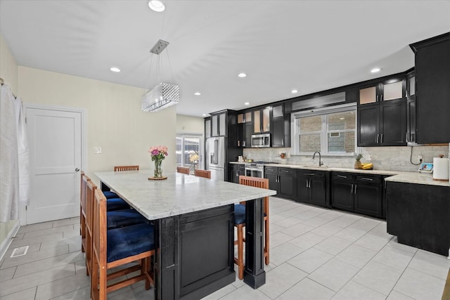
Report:
M 245 164 L 245 162 L 231 162 L 231 164 Z M 349 173 L 360 174 L 378 174 L 388 175 L 390 177 L 385 178 L 385 181 L 395 181 L 404 183 L 418 183 L 425 185 L 442 185 L 450 186 L 449 181 L 435 181 L 432 179 L 432 174 L 422 174 L 420 172 L 405 172 L 405 171 L 392 171 L 392 170 L 361 170 L 350 168 L 336 168 L 336 167 L 314 167 L 314 166 L 302 166 L 299 164 L 264 164 L 269 167 L 285 167 L 292 169 L 307 169 L 307 170 L 320 170 L 320 171 L 341 171 Z

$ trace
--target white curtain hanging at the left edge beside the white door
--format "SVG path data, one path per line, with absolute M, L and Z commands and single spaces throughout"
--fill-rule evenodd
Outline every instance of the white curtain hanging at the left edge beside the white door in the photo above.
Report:
M 28 202 L 28 148 L 24 133 L 22 103 L 13 97 L 11 87 L 4 84 L 0 91 L 0 222 L 19 219 L 20 200 L 24 204 Z M 19 155 L 26 157 L 21 158 L 25 162 L 22 166 Z M 20 169 L 24 173 L 21 181 Z M 20 190 L 24 191 L 23 197 L 20 197 Z

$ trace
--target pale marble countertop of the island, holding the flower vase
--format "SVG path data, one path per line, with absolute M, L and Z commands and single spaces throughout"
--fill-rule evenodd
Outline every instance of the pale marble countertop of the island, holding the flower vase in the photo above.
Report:
M 153 181 L 152 170 L 97 172 L 95 175 L 149 220 L 276 195 L 275 190 L 168 173 Z

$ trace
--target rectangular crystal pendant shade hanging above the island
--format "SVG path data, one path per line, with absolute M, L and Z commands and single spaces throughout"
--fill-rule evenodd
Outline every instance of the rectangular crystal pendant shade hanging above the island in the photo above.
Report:
M 180 88 L 178 84 L 161 82 L 141 98 L 143 112 L 158 112 L 179 103 Z

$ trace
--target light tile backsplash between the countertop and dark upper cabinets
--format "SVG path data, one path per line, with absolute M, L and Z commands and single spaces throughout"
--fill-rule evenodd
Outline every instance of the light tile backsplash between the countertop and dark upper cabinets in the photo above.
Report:
M 439 154 L 449 157 L 448 145 L 436 146 L 404 146 L 404 147 L 361 147 L 359 150 L 364 157 L 361 162 L 372 162 L 373 169 L 392 170 L 392 171 L 417 171 L 419 163 L 418 155 L 423 156 L 423 162 L 433 162 L 433 157 Z M 288 158 L 282 159 L 280 153 L 288 153 Z M 278 162 L 280 164 L 301 164 L 316 165 L 319 164 L 319 157 L 312 159 L 312 155 L 290 155 L 290 148 L 266 148 L 266 149 L 244 149 L 243 155 L 248 159 L 257 161 Z M 371 160 L 368 156 L 371 155 Z M 328 167 L 353 168 L 354 157 L 322 156 L 323 164 Z

